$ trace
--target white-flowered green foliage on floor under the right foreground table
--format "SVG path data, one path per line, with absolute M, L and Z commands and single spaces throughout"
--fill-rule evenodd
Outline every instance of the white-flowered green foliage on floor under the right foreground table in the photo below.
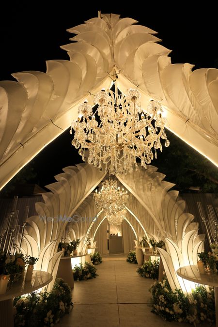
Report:
M 168 280 L 155 281 L 149 290 L 152 294 L 152 312 L 167 321 L 186 322 L 197 326 L 215 320 L 214 290 L 196 287 L 192 294 L 171 290 Z M 208 326 L 208 325 L 207 325 Z

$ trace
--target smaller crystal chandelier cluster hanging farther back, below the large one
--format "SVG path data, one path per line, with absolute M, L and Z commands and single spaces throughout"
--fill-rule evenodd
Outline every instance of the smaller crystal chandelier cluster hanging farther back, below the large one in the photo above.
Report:
M 120 225 L 125 218 L 128 197 L 124 188 L 121 191 L 120 187 L 117 187 L 116 180 L 104 181 L 101 190 L 95 190 L 93 195 L 95 205 L 99 210 L 104 210 L 106 218 L 113 225 Z

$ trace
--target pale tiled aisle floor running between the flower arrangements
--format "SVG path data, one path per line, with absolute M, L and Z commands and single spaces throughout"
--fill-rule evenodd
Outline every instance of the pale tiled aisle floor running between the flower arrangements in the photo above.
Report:
M 107 260 L 107 259 L 106 259 Z M 74 309 L 59 327 L 188 327 L 151 313 L 152 283 L 136 273 L 137 265 L 119 258 L 97 265 L 96 279 L 75 282 Z

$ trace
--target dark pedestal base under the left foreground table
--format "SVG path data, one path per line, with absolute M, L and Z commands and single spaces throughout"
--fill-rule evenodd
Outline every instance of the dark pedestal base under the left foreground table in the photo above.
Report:
M 14 327 L 12 298 L 0 301 L 0 327 Z

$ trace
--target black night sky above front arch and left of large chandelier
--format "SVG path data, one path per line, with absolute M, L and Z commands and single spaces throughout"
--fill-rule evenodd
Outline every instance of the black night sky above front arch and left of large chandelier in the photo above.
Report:
M 112 1 L 110 1 L 112 2 Z M 132 1 L 115 5 L 96 1 L 89 5 L 80 1 L 8 1 L 1 9 L 0 18 L 0 80 L 14 80 L 12 73 L 28 70 L 46 72 L 46 60 L 66 59 L 67 53 L 60 48 L 68 44 L 73 34 L 66 29 L 97 17 L 97 11 L 131 17 L 139 24 L 158 32 L 161 45 L 172 50 L 171 62 L 195 64 L 196 68 L 218 68 L 218 27 L 215 8 L 204 3 L 202 8 L 191 7 L 185 2 L 176 6 L 159 7 L 157 1 L 147 5 Z M 173 13 L 173 14 L 172 14 Z M 63 167 L 81 162 L 78 150 L 71 145 L 69 130 L 50 143 L 31 165 L 37 172 L 41 186 L 54 182 L 54 175 Z

